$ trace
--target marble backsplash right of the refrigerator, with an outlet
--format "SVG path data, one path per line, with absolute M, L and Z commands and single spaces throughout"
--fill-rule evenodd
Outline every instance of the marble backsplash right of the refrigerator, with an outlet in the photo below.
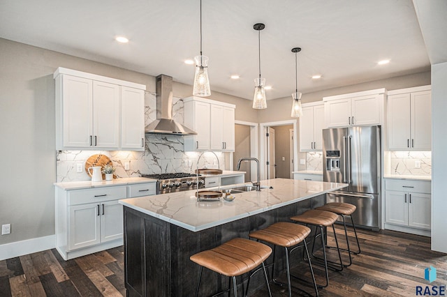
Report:
M 432 175 L 431 151 L 390 151 L 390 174 L 392 175 Z M 416 168 L 420 162 L 420 168 Z

